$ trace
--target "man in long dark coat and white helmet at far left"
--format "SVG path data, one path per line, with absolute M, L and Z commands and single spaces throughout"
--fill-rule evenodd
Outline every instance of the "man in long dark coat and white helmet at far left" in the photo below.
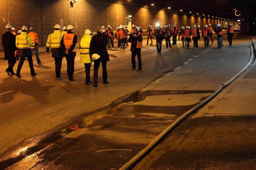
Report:
M 11 33 L 11 24 L 6 25 L 6 33 L 2 35 L 2 45 L 4 47 L 4 60 L 8 60 L 7 75 L 15 75 L 13 66 L 16 63 L 15 51 L 18 50 L 15 45 L 15 36 Z

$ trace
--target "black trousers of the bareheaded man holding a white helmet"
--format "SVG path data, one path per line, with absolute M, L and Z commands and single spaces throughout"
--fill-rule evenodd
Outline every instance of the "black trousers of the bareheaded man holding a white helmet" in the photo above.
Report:
M 101 62 L 102 65 L 102 79 L 103 82 L 106 82 L 108 80 L 108 72 L 107 72 L 107 62 Z M 100 67 L 100 58 L 97 60 L 94 60 L 94 66 L 93 66 L 93 83 L 98 83 L 98 69 Z

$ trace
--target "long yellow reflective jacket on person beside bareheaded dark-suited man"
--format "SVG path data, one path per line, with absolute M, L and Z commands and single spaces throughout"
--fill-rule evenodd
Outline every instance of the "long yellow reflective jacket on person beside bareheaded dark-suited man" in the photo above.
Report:
M 92 60 L 89 55 L 89 47 L 91 42 L 91 35 L 83 35 L 81 40 L 78 42 L 78 47 L 80 49 L 80 62 L 81 63 L 91 63 Z

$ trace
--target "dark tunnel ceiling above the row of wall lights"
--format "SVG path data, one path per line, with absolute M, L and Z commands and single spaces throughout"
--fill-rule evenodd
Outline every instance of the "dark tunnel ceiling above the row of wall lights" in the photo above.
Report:
M 170 10 L 173 14 L 195 15 L 206 18 L 223 18 L 228 20 L 240 19 L 235 10 L 241 6 L 256 6 L 255 0 L 101 0 L 124 5 L 146 7 L 155 10 Z M 151 5 L 154 4 L 154 5 Z M 167 7 L 171 7 L 168 9 Z M 182 11 L 180 11 L 182 9 Z M 191 12 L 191 13 L 189 13 Z M 199 13 L 199 15 L 197 15 Z

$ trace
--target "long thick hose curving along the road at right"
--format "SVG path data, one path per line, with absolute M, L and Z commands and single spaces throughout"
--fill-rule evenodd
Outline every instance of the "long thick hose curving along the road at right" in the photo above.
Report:
M 251 41 L 250 41 L 251 44 Z M 128 163 L 126 163 L 124 166 L 122 166 L 119 170 L 130 170 L 132 169 L 141 159 L 143 159 L 149 152 L 151 152 L 155 146 L 157 146 L 170 132 L 172 132 L 182 121 L 184 121 L 187 117 L 189 117 L 191 114 L 196 112 L 198 109 L 200 109 L 202 106 L 204 106 L 207 102 L 211 101 L 217 94 L 222 91 L 224 88 L 226 88 L 230 83 L 232 83 L 239 75 L 245 71 L 245 69 L 248 68 L 248 66 L 252 62 L 253 58 L 253 48 L 251 45 L 249 45 L 251 49 L 251 55 L 250 60 L 248 64 L 241 70 L 239 73 L 237 73 L 234 77 L 232 77 L 230 80 L 228 80 L 226 83 L 221 84 L 221 86 L 216 90 L 212 95 L 210 95 L 208 98 L 204 99 L 204 101 L 197 104 L 197 106 L 193 107 L 186 113 L 184 113 L 182 116 L 180 116 L 176 121 L 174 121 L 168 128 L 166 128 L 158 137 L 156 137 L 148 146 L 146 146 L 139 154 L 135 155 Z

